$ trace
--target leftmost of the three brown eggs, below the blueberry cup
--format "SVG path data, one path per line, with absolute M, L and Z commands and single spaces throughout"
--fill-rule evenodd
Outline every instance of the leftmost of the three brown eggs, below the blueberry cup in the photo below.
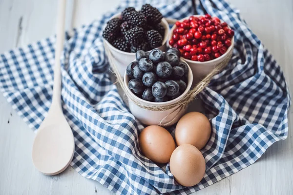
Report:
M 151 125 L 139 135 L 139 147 L 153 162 L 167 163 L 175 149 L 175 141 L 165 128 Z

